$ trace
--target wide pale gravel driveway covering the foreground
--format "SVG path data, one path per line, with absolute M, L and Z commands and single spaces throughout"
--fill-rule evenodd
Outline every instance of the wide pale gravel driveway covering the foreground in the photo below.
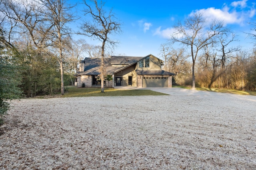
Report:
M 256 96 L 152 90 L 170 96 L 13 101 L 0 167 L 255 169 Z

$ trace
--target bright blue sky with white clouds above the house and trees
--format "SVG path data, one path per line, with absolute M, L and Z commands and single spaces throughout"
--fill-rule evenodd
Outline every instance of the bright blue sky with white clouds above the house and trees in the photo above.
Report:
M 79 2 L 79 1 L 78 1 Z M 256 2 L 254 0 L 105 0 L 106 8 L 113 12 L 122 23 L 122 33 L 113 38 L 120 43 L 112 55 L 159 57 L 160 45 L 166 43 L 172 33 L 172 26 L 183 21 L 193 12 L 202 12 L 209 19 L 224 20 L 236 32 L 244 48 L 252 47 L 252 40 L 243 32 L 250 32 L 256 22 Z M 98 42 L 87 37 L 87 43 Z

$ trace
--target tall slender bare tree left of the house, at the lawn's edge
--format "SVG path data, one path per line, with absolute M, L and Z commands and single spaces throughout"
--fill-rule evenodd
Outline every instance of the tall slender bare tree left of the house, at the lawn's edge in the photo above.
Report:
M 58 61 L 60 63 L 60 76 L 61 76 L 61 94 L 64 94 L 64 70 L 63 70 L 63 50 L 64 50 L 64 39 L 69 37 L 71 34 L 70 28 L 67 26 L 68 23 L 73 21 L 75 17 L 71 13 L 71 9 L 74 6 L 67 6 L 64 0 L 40 0 L 46 8 L 45 15 L 49 19 L 54 27 L 51 32 L 51 40 L 53 47 L 58 49 Z

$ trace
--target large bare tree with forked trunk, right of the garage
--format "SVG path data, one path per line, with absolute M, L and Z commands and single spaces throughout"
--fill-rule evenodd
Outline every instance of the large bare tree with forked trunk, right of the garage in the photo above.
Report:
M 170 41 L 179 42 L 191 50 L 192 57 L 192 89 L 196 88 L 195 83 L 195 64 L 200 50 L 211 44 L 214 37 L 224 31 L 224 24 L 220 21 L 212 21 L 206 27 L 206 19 L 200 13 L 195 13 L 186 18 L 184 23 L 178 22 L 174 25 L 175 32 L 171 35 Z

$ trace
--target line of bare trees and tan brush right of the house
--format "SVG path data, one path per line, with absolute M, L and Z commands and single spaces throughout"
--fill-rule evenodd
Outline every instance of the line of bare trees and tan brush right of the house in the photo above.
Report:
M 250 24 L 254 33 L 247 35 L 256 45 L 256 24 Z M 203 14 L 195 13 L 173 28 L 171 38 L 160 47 L 160 55 L 164 69 L 176 74 L 176 84 L 256 90 L 256 49 L 234 46 L 236 33 L 223 21 L 207 21 Z

